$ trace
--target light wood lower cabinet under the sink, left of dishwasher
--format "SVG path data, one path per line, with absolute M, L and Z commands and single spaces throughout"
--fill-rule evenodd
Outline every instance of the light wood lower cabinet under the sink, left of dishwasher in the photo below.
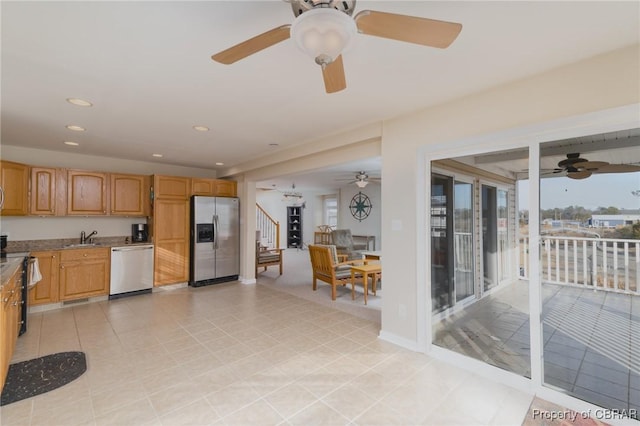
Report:
M 110 256 L 107 247 L 60 251 L 60 300 L 108 295 Z

